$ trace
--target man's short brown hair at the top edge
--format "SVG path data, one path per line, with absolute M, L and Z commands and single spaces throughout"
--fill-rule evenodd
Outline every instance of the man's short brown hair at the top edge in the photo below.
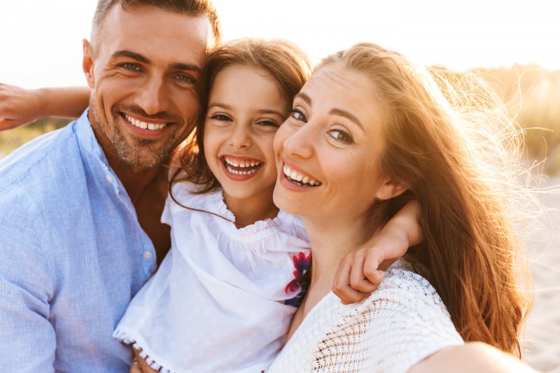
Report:
M 120 4 L 123 9 L 133 4 L 139 4 L 142 6 L 153 6 L 154 8 L 167 10 L 172 13 L 182 13 L 192 17 L 208 17 L 212 31 L 214 31 L 214 45 L 221 43 L 220 19 L 211 0 L 99 0 L 92 22 L 92 45 L 95 44 L 95 39 L 101 30 L 103 20 L 107 13 L 109 13 L 109 10 L 116 4 Z

